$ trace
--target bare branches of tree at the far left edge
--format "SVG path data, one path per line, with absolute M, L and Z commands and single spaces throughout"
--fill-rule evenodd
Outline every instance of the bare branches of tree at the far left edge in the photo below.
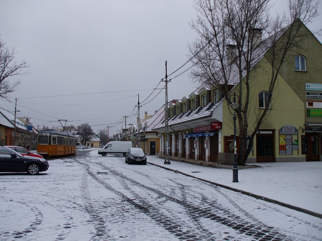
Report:
M 6 98 L 9 93 L 14 92 L 20 84 L 19 80 L 10 82 L 10 77 L 28 73 L 21 71 L 24 68 L 28 68 L 29 65 L 25 61 L 16 63 L 14 61 L 15 54 L 14 47 L 5 47 L 5 43 L 0 39 L 0 97 L 3 98 Z

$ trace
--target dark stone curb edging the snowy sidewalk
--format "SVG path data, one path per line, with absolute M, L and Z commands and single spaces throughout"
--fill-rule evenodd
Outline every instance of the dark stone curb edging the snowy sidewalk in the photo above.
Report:
M 185 176 L 188 176 L 188 177 L 192 177 L 192 178 L 198 179 L 200 181 L 204 181 L 206 183 L 210 183 L 210 184 L 213 184 L 213 185 L 216 185 L 216 186 L 219 186 L 219 187 L 223 187 L 225 189 L 229 189 L 229 190 L 234 191 L 234 192 L 240 192 L 240 193 L 242 193 L 244 195 L 251 196 L 251 197 L 254 197 L 256 199 L 260 199 L 260 200 L 267 201 L 267 202 L 270 202 L 270 203 L 278 204 L 278 205 L 280 205 L 282 207 L 286 207 L 286 208 L 289 208 L 289 209 L 293 209 L 293 210 L 296 210 L 296 211 L 299 211 L 299 212 L 303 212 L 303 213 L 306 213 L 306 214 L 309 214 L 309 215 L 312 215 L 314 217 L 317 217 L 317 218 L 322 219 L 322 214 L 321 213 L 313 212 L 313 211 L 310 211 L 310 210 L 307 210 L 307 209 L 304 209 L 304 208 L 300 208 L 300 207 L 297 207 L 297 206 L 294 206 L 294 205 L 291 205 L 291 204 L 287 204 L 287 203 L 284 203 L 284 202 L 281 202 L 281 201 L 277 201 L 277 200 L 274 200 L 274 199 L 270 199 L 268 197 L 260 196 L 260 195 L 257 195 L 257 194 L 251 193 L 251 192 L 246 192 L 246 191 L 241 190 L 241 189 L 229 187 L 229 186 L 226 186 L 226 185 L 223 185 L 223 184 L 220 184 L 220 183 L 211 182 L 211 181 L 208 181 L 208 180 L 199 178 L 199 177 L 192 176 L 190 174 L 186 174 L 186 173 L 180 172 L 178 170 L 173 170 L 173 169 L 168 168 L 168 167 L 165 167 L 165 166 L 157 165 L 155 163 L 151 163 L 151 162 L 147 162 L 147 163 L 149 163 L 151 165 L 155 165 L 155 166 L 161 167 L 161 168 L 166 169 L 168 171 L 172 171 L 172 172 L 175 172 L 175 173 L 180 173 L 182 175 L 185 175 Z

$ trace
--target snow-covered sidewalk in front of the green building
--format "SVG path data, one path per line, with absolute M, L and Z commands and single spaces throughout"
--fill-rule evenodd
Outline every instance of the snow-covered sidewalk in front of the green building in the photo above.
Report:
M 238 183 L 231 169 L 174 160 L 165 165 L 158 156 L 147 156 L 147 162 L 322 214 L 322 162 L 256 163 L 260 167 L 238 170 Z

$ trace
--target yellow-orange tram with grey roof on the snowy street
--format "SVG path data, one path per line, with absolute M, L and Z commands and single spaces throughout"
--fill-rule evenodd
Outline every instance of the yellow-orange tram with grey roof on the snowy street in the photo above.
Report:
M 71 133 L 54 129 L 38 132 L 37 152 L 45 158 L 75 154 L 76 144 L 77 138 Z

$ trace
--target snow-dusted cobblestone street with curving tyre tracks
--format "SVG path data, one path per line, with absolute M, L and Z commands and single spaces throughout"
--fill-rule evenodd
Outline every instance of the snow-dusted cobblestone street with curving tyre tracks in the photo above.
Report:
M 322 240 L 317 217 L 155 165 L 97 149 L 48 162 L 0 173 L 0 240 Z

